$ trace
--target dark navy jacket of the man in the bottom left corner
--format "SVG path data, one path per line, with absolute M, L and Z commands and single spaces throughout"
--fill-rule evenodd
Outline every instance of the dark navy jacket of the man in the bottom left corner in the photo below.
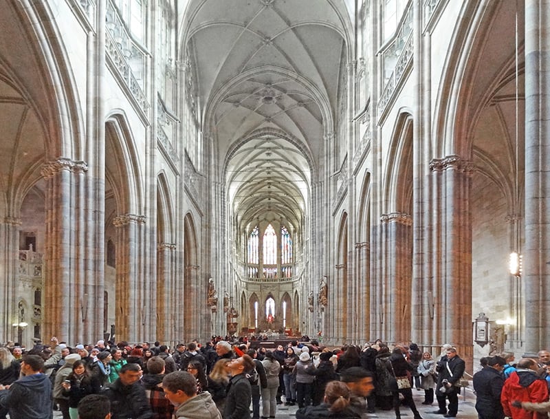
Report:
M 8 409 L 11 419 L 51 419 L 52 383 L 45 374 L 32 374 L 14 381 L 0 391 L 0 405 Z

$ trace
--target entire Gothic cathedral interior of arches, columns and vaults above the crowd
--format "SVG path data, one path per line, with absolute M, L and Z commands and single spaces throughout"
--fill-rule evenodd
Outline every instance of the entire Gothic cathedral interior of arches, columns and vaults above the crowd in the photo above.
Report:
M 3 0 L 0 340 L 549 349 L 549 7 Z

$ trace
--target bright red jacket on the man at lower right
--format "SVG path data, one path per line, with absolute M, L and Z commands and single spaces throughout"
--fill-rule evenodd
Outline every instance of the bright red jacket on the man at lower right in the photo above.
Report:
M 500 403 L 503 405 L 504 414 L 514 419 L 543 419 L 547 413 L 527 411 L 521 407 L 514 407 L 512 402 L 545 402 L 548 400 L 548 387 L 546 380 L 539 378 L 534 371 L 519 370 L 512 372 L 504 383 L 503 392 L 500 394 Z

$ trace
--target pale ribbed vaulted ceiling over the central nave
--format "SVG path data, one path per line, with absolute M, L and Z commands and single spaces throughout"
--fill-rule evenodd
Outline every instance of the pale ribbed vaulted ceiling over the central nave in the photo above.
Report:
M 192 1 L 184 22 L 205 138 L 241 228 L 299 228 L 333 131 L 349 11 L 343 0 L 229 3 Z

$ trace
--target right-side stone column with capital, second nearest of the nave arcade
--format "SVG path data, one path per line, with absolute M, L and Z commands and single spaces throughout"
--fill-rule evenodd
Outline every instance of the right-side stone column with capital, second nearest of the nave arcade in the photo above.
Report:
M 382 301 L 377 310 L 384 313 L 382 334 L 388 342 L 410 339 L 410 292 L 412 288 L 412 218 L 404 213 L 380 217 L 384 239 L 382 266 L 384 275 L 379 292 Z

